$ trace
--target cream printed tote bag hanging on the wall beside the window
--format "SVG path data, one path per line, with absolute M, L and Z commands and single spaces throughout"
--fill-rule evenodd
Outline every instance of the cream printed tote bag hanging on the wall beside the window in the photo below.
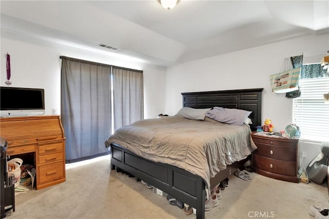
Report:
M 283 71 L 279 74 L 270 75 L 272 91 L 286 93 L 298 90 L 298 82 L 301 68 Z

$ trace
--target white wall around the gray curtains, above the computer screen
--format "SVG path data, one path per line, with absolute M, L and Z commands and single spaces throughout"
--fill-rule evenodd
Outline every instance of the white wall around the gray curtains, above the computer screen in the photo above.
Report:
M 130 57 L 117 57 L 2 31 L 1 86 L 7 86 L 7 52 L 11 61 L 11 87 L 44 88 L 46 115 L 53 114 L 53 109 L 57 109 L 60 114 L 60 55 L 143 70 L 144 118 L 154 118 L 165 111 L 165 98 L 159 98 L 165 95 L 166 88 L 166 69 L 163 67 L 141 63 Z

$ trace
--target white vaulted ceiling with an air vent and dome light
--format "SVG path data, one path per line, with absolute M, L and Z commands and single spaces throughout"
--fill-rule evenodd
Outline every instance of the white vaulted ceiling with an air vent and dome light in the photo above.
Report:
M 171 66 L 329 32 L 329 1 L 1 1 L 1 29 Z M 105 44 L 118 50 L 99 47 Z

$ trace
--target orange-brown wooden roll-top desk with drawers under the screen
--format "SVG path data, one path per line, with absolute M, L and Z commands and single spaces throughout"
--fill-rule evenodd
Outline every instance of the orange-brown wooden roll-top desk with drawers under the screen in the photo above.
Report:
M 36 189 L 65 181 L 65 136 L 61 116 L 0 118 L 8 155 L 34 153 Z

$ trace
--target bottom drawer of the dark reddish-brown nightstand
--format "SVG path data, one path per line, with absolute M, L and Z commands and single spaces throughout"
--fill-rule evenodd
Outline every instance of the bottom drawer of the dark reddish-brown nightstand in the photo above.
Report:
M 296 162 L 280 161 L 253 154 L 253 166 L 268 172 L 296 176 Z

